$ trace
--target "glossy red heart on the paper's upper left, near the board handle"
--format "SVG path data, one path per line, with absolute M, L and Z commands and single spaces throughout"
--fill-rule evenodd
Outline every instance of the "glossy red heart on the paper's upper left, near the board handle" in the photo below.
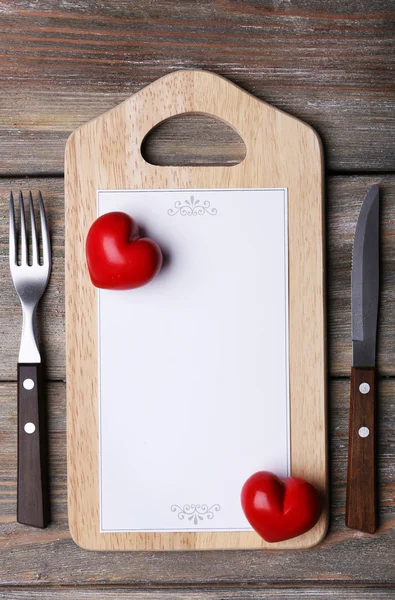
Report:
M 93 285 L 108 290 L 145 285 L 162 266 L 158 244 L 139 238 L 136 222 L 122 212 L 96 219 L 86 238 L 86 259 Z

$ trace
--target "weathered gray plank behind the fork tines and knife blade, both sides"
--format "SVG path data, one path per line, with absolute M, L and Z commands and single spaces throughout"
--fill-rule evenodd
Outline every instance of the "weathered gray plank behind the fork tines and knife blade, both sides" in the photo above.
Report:
M 382 293 L 379 369 L 395 375 L 395 176 L 330 177 L 327 193 L 328 340 L 332 375 L 351 365 L 350 276 L 354 228 L 363 195 L 379 182 L 382 198 Z M 51 379 L 65 379 L 63 180 L 0 180 L 0 379 L 15 379 L 21 315 L 8 268 L 8 193 L 40 187 L 48 207 L 54 246 L 51 282 L 41 304 L 42 339 Z M 84 257 L 81 256 L 81 261 Z

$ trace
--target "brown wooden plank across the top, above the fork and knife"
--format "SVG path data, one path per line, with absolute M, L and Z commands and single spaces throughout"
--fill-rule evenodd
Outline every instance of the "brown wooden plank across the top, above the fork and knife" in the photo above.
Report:
M 2 174 L 61 173 L 72 130 L 180 68 L 215 71 L 314 126 L 332 170 L 394 167 L 388 0 L 3 0 L 0 10 Z M 202 144 L 199 127 L 184 123 L 181 139 Z

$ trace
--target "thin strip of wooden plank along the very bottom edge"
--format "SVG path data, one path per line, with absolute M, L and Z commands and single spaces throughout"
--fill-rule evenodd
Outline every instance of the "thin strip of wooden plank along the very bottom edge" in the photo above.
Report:
M 51 589 L 18 589 L 0 588 L 0 600 L 387 600 L 394 598 L 394 588 L 391 587 L 355 587 L 339 586 L 308 587 L 308 588 L 257 588 L 252 587 L 220 587 L 214 588 L 51 588 Z

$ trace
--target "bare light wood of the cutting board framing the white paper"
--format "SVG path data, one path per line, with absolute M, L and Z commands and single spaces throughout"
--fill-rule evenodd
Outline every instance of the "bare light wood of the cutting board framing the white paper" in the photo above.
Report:
M 202 113 L 231 125 L 247 154 L 232 167 L 158 167 L 141 143 L 161 121 Z M 66 328 L 69 523 L 87 549 L 181 550 L 305 548 L 315 527 L 268 544 L 255 532 L 101 533 L 98 481 L 96 291 L 84 261 L 85 239 L 103 189 L 288 188 L 291 473 L 326 497 L 326 357 L 323 164 L 320 140 L 301 121 L 205 71 L 177 71 L 76 130 L 66 145 Z M 308 419 L 306 419 L 306 414 Z

